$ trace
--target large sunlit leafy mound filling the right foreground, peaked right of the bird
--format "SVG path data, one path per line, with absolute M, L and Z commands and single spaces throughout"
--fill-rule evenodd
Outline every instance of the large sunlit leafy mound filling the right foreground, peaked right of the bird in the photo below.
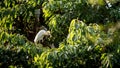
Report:
M 41 68 L 116 67 L 120 65 L 119 43 L 114 45 L 112 37 L 97 24 L 87 26 L 84 22 L 73 19 L 67 43 L 63 42 L 57 49 L 36 55 L 34 62 Z

